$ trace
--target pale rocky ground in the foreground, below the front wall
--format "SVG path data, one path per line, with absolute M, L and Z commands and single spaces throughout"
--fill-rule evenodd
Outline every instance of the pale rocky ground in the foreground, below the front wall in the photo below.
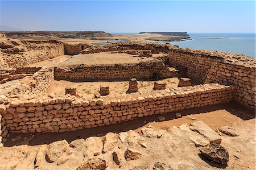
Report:
M 163 121 L 164 117 L 159 119 Z M 254 169 L 254 125 L 255 119 L 216 131 L 202 121 L 170 126 L 167 130 L 148 125 L 138 132 L 109 132 L 70 143 L 58 140 L 36 146 L 29 142 L 19 145 L 36 138 L 34 135 L 13 136 L 11 140 L 18 146 L 0 148 L 0 168 Z

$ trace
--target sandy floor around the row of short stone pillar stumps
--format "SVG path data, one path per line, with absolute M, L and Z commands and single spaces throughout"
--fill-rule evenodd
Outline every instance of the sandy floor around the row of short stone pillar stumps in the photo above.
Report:
M 176 88 L 179 84 L 179 79 L 166 78 L 163 80 L 167 84 L 167 88 Z M 151 92 L 154 88 L 155 80 L 138 81 L 139 92 Z M 125 94 L 129 88 L 129 81 L 94 81 L 94 82 L 72 82 L 65 80 L 55 80 L 49 86 L 47 93 L 56 93 L 57 96 L 65 94 L 65 87 L 76 85 L 79 94 L 86 94 L 88 97 L 93 97 L 95 92 L 100 91 L 101 85 L 108 85 L 112 96 Z

